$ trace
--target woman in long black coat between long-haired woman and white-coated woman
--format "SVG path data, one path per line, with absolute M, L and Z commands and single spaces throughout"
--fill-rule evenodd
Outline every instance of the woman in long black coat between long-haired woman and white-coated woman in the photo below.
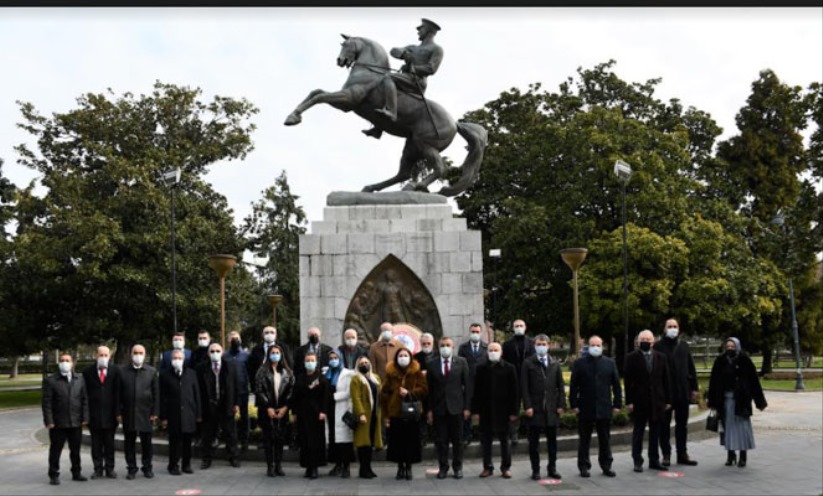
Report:
M 303 365 L 306 373 L 295 380 L 289 409 L 296 417 L 297 442 L 303 477 L 316 479 L 317 468 L 326 465 L 326 415 L 329 412 L 329 381 L 318 367 L 317 355 L 307 353 Z

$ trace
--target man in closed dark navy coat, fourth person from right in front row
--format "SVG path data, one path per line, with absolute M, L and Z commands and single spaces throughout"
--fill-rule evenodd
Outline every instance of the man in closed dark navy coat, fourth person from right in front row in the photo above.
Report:
M 600 336 L 589 338 L 589 354 L 574 361 L 569 403 L 577 413 L 577 468 L 581 477 L 589 477 L 592 467 L 589 459 L 592 430 L 597 429 L 600 452 L 598 462 L 603 475 L 614 477 L 612 450 L 609 444 L 612 415 L 620 411 L 622 391 L 620 376 L 614 360 L 603 356 Z

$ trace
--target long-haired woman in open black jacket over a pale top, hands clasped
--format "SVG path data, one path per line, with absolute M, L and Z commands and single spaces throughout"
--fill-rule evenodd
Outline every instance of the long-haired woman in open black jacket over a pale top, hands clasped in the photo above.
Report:
M 257 418 L 263 430 L 266 475 L 269 477 L 286 475 L 282 467 L 283 444 L 289 418 L 288 404 L 293 391 L 294 375 L 286 364 L 283 350 L 278 345 L 269 347 L 269 356 L 257 369 L 254 378 L 254 396 L 259 405 Z

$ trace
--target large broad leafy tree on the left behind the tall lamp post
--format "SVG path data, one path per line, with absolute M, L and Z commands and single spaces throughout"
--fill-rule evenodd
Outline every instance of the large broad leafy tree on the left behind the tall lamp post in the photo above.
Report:
M 19 162 L 41 174 L 47 193 L 22 202 L 15 256 L 34 280 L 52 281 L 23 292 L 49 309 L 37 325 L 50 330 L 51 346 L 113 340 L 122 356 L 137 340 L 156 347 L 167 339 L 170 195 L 161 176 L 175 167 L 180 328 L 193 334 L 219 322 L 206 257 L 240 255 L 243 242 L 225 198 L 202 176 L 252 149 L 247 120 L 257 109 L 221 96 L 203 103 L 201 93 L 157 82 L 139 97 L 89 93 L 52 117 L 20 103 L 20 127 L 37 150 L 18 146 Z

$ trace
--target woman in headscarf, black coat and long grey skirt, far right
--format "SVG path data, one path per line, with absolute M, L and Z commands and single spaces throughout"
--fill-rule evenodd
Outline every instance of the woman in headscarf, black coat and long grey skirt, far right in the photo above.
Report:
M 717 357 L 709 378 L 709 408 L 717 410 L 723 422 L 720 444 L 728 451 L 726 465 L 737 462 L 738 467 L 746 466 L 746 452 L 754 449 L 752 431 L 752 401 L 758 410 L 767 406 L 757 369 L 740 348 L 737 338 L 729 338 L 724 343 L 725 353 Z M 737 460 L 735 450 L 740 451 Z

